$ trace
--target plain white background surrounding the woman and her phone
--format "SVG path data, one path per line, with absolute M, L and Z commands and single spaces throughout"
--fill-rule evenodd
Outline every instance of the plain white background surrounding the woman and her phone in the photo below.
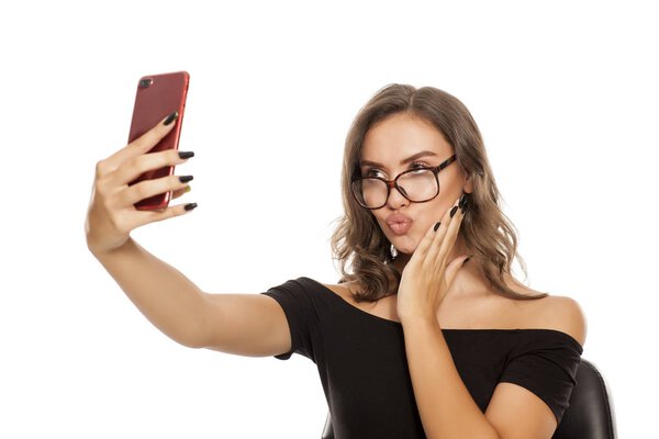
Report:
M 0 437 L 320 437 L 311 361 L 183 348 L 87 251 L 137 79 L 182 69 L 199 209 L 145 247 L 209 292 L 334 282 L 351 119 L 387 83 L 442 88 L 480 125 L 529 285 L 582 305 L 621 438 L 656 434 L 651 2 L 205 3 L 1 7 Z

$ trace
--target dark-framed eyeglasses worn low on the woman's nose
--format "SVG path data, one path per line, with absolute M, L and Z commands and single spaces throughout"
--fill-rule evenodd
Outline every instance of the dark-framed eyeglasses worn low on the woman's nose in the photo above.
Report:
M 393 180 L 381 177 L 353 176 L 350 190 L 353 196 L 362 207 L 376 210 L 383 207 L 389 200 L 391 188 L 413 203 L 425 203 L 439 194 L 439 171 L 456 161 L 453 155 L 434 168 L 410 169 L 399 173 Z

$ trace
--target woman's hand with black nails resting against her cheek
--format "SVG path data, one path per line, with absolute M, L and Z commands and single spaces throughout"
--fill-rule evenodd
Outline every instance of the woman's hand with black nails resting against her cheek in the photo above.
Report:
M 463 216 L 465 212 L 456 202 L 444 214 L 439 227 L 433 225 L 418 243 L 399 284 L 396 309 L 402 324 L 418 319 L 437 320 L 442 301 L 458 270 L 469 258 L 462 255 L 448 260 Z

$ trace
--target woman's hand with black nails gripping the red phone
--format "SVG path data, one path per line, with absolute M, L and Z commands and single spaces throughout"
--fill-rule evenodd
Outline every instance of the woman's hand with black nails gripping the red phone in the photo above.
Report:
M 168 176 L 129 185 L 145 171 L 187 161 L 175 149 L 148 154 L 176 125 L 165 125 L 168 120 L 172 121 L 171 117 L 164 119 L 142 137 L 97 164 L 85 223 L 87 246 L 93 254 L 121 247 L 136 227 L 183 215 L 197 206 L 194 203 L 179 204 L 158 211 L 139 211 L 134 206 L 141 200 L 168 191 L 172 191 L 172 198 L 180 196 L 188 188 L 191 176 L 183 179 L 186 182 L 178 176 Z

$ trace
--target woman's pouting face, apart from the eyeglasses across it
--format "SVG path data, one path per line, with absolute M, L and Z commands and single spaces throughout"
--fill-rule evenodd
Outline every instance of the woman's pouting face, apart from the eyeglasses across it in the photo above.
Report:
M 429 122 L 399 113 L 375 124 L 366 134 L 359 167 L 362 176 L 393 180 L 398 175 L 421 167 L 436 167 L 453 156 L 454 149 Z M 435 223 L 462 193 L 471 192 L 457 161 L 439 175 L 439 194 L 431 201 L 414 203 L 392 188 L 383 207 L 372 210 L 378 224 L 399 252 L 411 255 Z

